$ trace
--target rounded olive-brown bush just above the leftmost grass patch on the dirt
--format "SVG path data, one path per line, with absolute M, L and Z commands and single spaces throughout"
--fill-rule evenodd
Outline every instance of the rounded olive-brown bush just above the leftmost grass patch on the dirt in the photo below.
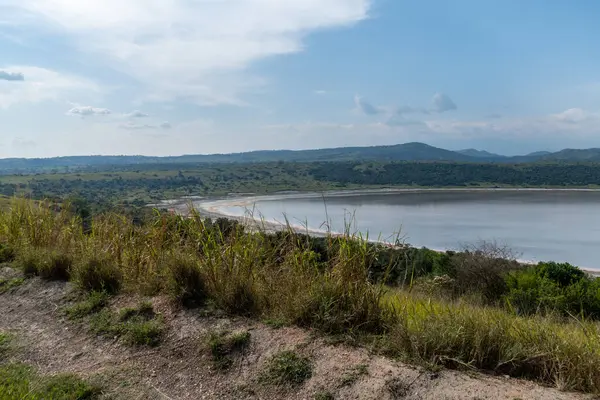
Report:
M 90 292 L 117 293 L 121 288 L 121 270 L 108 258 L 92 257 L 76 265 L 74 279 Z

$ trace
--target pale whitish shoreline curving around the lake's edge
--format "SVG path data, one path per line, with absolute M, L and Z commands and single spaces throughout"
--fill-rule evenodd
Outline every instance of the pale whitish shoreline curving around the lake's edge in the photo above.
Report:
M 381 189 L 350 189 L 350 190 L 330 190 L 324 192 L 301 192 L 301 191 L 285 191 L 272 194 L 259 195 L 255 193 L 243 193 L 243 194 L 229 194 L 227 196 L 218 197 L 202 197 L 202 196 L 189 196 L 185 198 L 172 199 L 161 201 L 159 204 L 153 206 L 167 206 L 172 211 L 187 215 L 189 208 L 192 206 L 202 216 L 216 219 L 216 218 L 227 218 L 236 220 L 251 229 L 260 229 L 268 233 L 274 233 L 287 228 L 293 229 L 297 233 L 311 235 L 315 237 L 324 237 L 327 235 L 343 235 L 343 232 L 333 232 L 327 229 L 314 229 L 308 226 L 291 224 L 289 221 L 281 222 L 275 219 L 267 220 L 259 214 L 259 218 L 254 217 L 248 206 L 252 205 L 258 200 L 282 200 L 288 198 L 318 198 L 318 197 L 343 197 L 343 196 L 360 196 L 365 194 L 393 194 L 393 193 L 418 193 L 418 192 L 600 192 L 600 189 L 589 189 L 589 188 L 381 188 Z M 225 212 L 223 207 L 240 207 L 245 208 L 246 212 L 244 215 L 232 214 Z M 360 231 L 355 232 L 360 235 Z M 393 243 L 385 240 L 374 240 L 368 239 L 372 243 L 380 243 L 384 245 L 393 245 Z M 410 245 L 410 247 L 416 247 Z M 426 247 L 426 246 L 421 246 Z M 428 249 L 436 252 L 446 252 L 451 249 Z M 452 250 L 457 251 L 457 250 Z M 537 262 L 528 260 L 517 260 L 521 264 L 534 265 Z M 600 278 L 600 269 L 578 267 L 582 271 L 585 271 L 593 277 Z

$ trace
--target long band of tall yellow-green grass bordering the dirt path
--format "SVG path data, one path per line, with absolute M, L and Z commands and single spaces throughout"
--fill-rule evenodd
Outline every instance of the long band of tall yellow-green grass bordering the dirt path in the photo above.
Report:
M 316 252 L 291 228 L 247 231 L 193 211 L 185 218 L 156 213 L 142 226 L 107 214 L 83 229 L 50 203 L 15 199 L 0 212 L 0 243 L 17 260 L 43 251 L 68 257 L 66 276 L 85 290 L 167 293 L 193 306 L 210 299 L 232 314 L 374 336 L 410 360 L 600 392 L 597 324 L 390 291 L 369 279 L 379 255 L 349 231 Z

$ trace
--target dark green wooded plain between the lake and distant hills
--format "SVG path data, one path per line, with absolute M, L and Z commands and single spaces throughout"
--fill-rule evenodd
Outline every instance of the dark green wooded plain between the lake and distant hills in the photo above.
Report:
M 600 164 L 314 162 L 167 164 L 0 177 L 0 195 L 70 200 L 81 216 L 118 209 L 138 220 L 150 202 L 181 196 L 381 187 L 597 187 Z M 0 197 L 0 208 L 9 200 Z

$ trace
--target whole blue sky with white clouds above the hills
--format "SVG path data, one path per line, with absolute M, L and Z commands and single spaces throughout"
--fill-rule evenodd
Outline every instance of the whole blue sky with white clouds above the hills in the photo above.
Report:
M 596 0 L 0 0 L 0 157 L 600 147 Z

